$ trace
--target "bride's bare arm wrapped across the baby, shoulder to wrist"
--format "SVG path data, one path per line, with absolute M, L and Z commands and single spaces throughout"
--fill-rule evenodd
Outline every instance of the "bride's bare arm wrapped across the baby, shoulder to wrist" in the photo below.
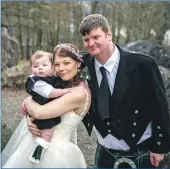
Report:
M 83 88 L 72 88 L 71 92 L 45 105 L 39 105 L 32 99 L 26 100 L 29 114 L 35 119 L 49 119 L 78 109 L 85 103 L 86 93 Z

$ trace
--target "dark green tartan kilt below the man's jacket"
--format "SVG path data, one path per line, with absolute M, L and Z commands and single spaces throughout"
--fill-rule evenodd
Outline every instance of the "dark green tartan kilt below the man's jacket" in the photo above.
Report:
M 136 165 L 135 168 L 155 168 L 150 163 L 150 151 L 137 150 L 137 151 L 119 151 L 111 150 L 103 147 L 98 143 L 94 168 L 134 168 L 127 162 L 119 164 L 122 158 L 130 159 Z M 117 165 L 116 165 L 117 164 Z

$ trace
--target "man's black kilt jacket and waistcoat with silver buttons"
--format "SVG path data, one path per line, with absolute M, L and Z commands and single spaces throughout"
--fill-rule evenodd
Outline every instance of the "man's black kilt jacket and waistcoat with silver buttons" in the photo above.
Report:
M 83 54 L 91 75 L 89 87 L 92 94 L 90 111 L 83 120 L 87 131 L 90 135 L 94 125 L 103 137 L 110 133 L 133 148 L 152 122 L 149 149 L 155 153 L 167 153 L 170 150 L 169 108 L 156 60 L 117 47 L 120 62 L 110 100 L 110 114 L 105 120 L 98 113 L 99 86 L 94 58 Z

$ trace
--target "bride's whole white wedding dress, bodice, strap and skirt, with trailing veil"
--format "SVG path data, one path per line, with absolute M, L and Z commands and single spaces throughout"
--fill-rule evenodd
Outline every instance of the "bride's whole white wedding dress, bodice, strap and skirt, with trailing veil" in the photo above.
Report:
M 71 111 L 61 117 L 61 123 L 54 129 L 51 145 L 42 154 L 39 164 L 32 163 L 29 160 L 29 156 L 37 144 L 35 143 L 35 138 L 25 128 L 26 131 L 22 131 L 24 137 L 21 136 L 20 141 L 17 143 L 18 145 L 13 148 L 15 151 L 8 148 L 14 152 L 10 155 L 3 168 L 86 168 L 84 155 L 79 147 L 71 142 L 71 137 L 77 131 L 77 126 L 82 121 L 87 107 L 88 99 L 81 115 Z M 3 154 L 5 153 L 8 154 L 8 150 L 4 151 Z

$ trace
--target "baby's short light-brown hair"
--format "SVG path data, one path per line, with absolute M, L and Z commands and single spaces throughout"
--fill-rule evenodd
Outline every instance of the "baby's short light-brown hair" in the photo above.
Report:
M 49 53 L 49 52 L 45 52 L 45 51 L 42 51 L 42 50 L 37 50 L 32 56 L 31 56 L 31 59 L 30 59 L 30 66 L 32 66 L 33 62 L 43 56 L 48 56 L 49 57 L 49 60 L 51 61 L 51 63 L 53 63 L 53 55 L 52 53 Z

